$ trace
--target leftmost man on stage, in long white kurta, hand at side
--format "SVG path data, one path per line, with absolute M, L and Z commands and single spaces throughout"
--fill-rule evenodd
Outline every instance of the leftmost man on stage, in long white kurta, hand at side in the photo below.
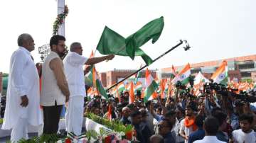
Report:
M 11 55 L 9 83 L 3 130 L 11 130 L 11 142 L 28 139 L 28 125 L 42 124 L 39 105 L 39 76 L 31 51 L 34 40 L 29 34 L 18 36 L 18 50 Z

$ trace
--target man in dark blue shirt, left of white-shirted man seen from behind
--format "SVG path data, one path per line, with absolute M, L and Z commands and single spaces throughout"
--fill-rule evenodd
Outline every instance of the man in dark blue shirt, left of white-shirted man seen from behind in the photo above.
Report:
M 205 131 L 203 130 L 203 116 L 202 115 L 196 116 L 195 124 L 198 127 L 198 130 L 196 132 L 191 133 L 191 135 L 188 136 L 188 143 L 192 143 L 196 140 L 201 140 L 206 135 Z

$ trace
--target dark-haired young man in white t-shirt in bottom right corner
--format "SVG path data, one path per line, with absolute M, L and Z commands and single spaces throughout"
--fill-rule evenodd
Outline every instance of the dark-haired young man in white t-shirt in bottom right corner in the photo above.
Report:
M 256 133 L 252 130 L 253 115 L 242 114 L 239 117 L 241 129 L 232 132 L 233 142 L 249 143 L 256 142 Z

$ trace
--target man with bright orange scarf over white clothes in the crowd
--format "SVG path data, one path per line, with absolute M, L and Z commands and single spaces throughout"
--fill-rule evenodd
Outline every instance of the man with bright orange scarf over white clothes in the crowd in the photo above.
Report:
M 188 143 L 188 136 L 197 130 L 197 126 L 195 124 L 195 115 L 193 111 L 195 107 L 191 104 L 186 106 L 186 118 L 181 120 L 181 128 L 180 128 L 180 135 L 185 139 L 185 143 Z

